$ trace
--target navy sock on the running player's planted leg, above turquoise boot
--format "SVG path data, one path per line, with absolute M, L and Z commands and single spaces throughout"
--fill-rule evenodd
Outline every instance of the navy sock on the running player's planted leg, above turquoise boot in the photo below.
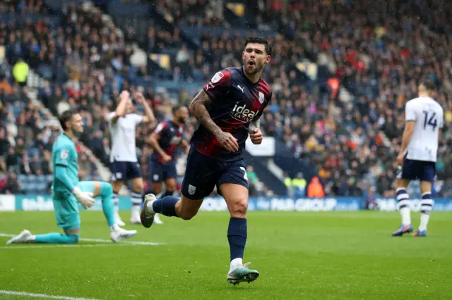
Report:
M 227 228 L 227 240 L 231 251 L 231 261 L 234 258 L 243 258 L 247 236 L 246 219 L 230 218 L 229 227 Z

